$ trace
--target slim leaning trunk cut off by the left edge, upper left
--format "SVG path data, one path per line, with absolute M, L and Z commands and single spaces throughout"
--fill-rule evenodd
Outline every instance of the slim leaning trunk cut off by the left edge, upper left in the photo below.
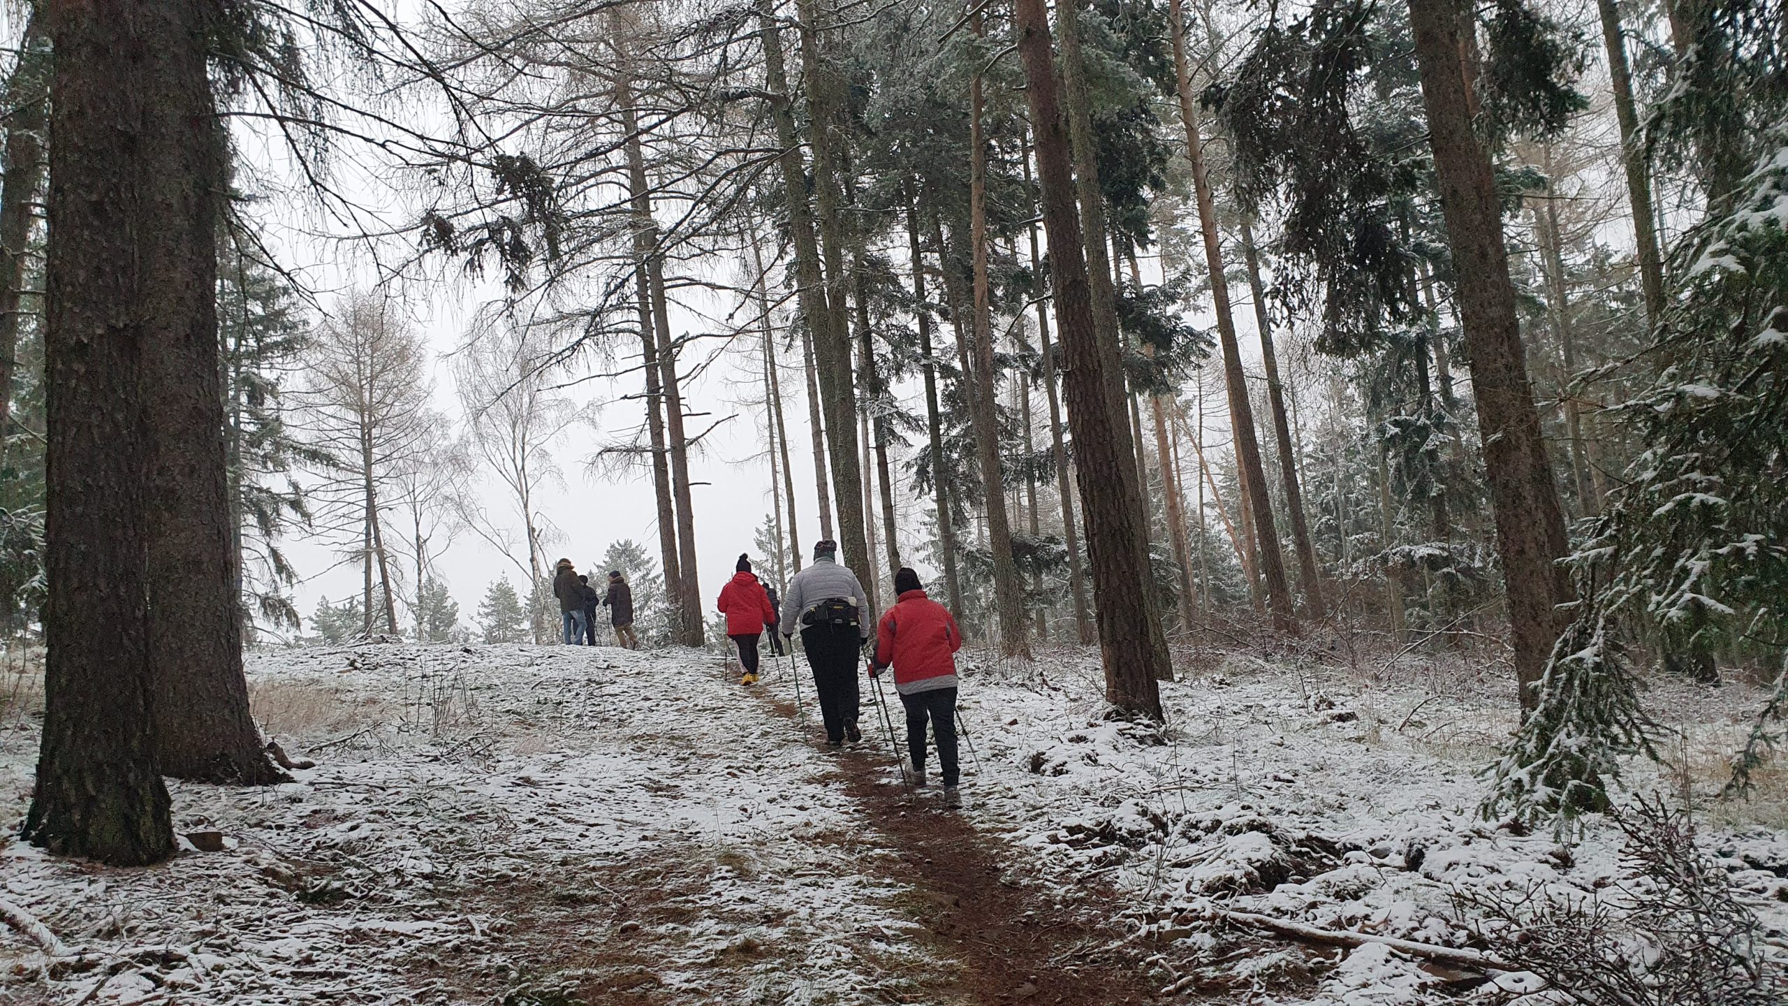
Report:
M 0 181 L 0 440 L 13 431 L 13 374 L 23 320 L 25 256 L 32 204 L 43 188 L 43 134 L 48 125 L 50 39 L 34 5 L 5 82 L 5 175 Z

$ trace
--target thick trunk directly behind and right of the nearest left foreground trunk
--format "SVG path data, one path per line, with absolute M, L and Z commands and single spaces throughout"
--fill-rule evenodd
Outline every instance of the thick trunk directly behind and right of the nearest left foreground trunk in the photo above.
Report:
M 188 18 L 197 18 L 186 11 Z M 193 47 L 188 47 L 193 48 Z M 241 669 L 236 512 L 224 458 L 216 319 L 218 199 L 225 138 L 202 50 L 168 55 L 159 125 L 139 170 L 157 177 L 161 224 L 139 243 L 159 281 L 145 290 L 143 417 L 150 712 L 163 775 L 284 780 L 261 748 Z M 383 571 L 383 567 L 381 567 Z M 390 593 L 388 619 L 395 621 Z

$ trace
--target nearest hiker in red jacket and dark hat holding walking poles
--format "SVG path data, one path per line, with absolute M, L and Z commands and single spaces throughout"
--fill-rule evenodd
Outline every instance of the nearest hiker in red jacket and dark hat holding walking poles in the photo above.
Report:
M 924 721 L 937 737 L 937 759 L 944 763 L 944 800 L 957 806 L 957 650 L 962 630 L 949 609 L 924 596 L 919 575 L 901 567 L 894 575 L 899 601 L 881 616 L 876 630 L 876 659 L 869 675 L 894 666 L 894 691 L 907 707 L 907 752 L 912 772 L 924 786 Z

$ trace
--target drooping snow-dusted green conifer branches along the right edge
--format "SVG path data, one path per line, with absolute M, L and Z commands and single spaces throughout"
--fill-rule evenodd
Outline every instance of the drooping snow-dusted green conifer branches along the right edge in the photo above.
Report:
M 1774 698 L 1734 761 L 1747 786 L 1788 721 L 1788 122 L 1756 170 L 1677 249 L 1681 290 L 1620 406 L 1645 451 L 1570 558 L 1579 601 L 1539 707 L 1497 768 L 1495 814 L 1607 806 L 1625 754 L 1654 754 L 1622 635 L 1666 655 L 1758 657 Z M 1700 661 L 1697 661 L 1700 657 Z

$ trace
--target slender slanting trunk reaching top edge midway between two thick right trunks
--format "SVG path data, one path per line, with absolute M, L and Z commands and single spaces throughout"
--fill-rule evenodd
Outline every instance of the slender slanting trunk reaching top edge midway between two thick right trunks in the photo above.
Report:
M 1198 134 L 1198 107 L 1193 102 L 1193 79 L 1191 64 L 1185 59 L 1185 23 L 1180 13 L 1180 0 L 1169 0 L 1168 4 L 1168 30 L 1173 36 L 1173 68 L 1180 95 L 1180 118 L 1185 127 L 1185 159 L 1193 165 L 1198 229 L 1205 243 L 1205 267 L 1210 272 L 1210 303 L 1218 315 L 1218 344 L 1223 347 L 1223 376 L 1228 385 L 1236 464 L 1244 474 L 1243 489 L 1248 494 L 1253 533 L 1261 544 L 1261 576 L 1266 580 L 1266 600 L 1273 612 L 1273 625 L 1280 630 L 1296 630 L 1291 585 L 1286 582 L 1286 558 L 1278 548 L 1278 528 L 1273 524 L 1273 503 L 1266 492 L 1266 471 L 1261 464 L 1261 444 L 1255 437 L 1253 405 L 1248 401 L 1248 379 L 1241 369 L 1236 313 L 1230 310 L 1228 277 L 1223 270 L 1223 249 L 1218 240 L 1216 202 L 1210 193 L 1210 179 L 1205 175 L 1205 141 Z M 1291 455 L 1287 455 L 1286 462 L 1291 464 Z

